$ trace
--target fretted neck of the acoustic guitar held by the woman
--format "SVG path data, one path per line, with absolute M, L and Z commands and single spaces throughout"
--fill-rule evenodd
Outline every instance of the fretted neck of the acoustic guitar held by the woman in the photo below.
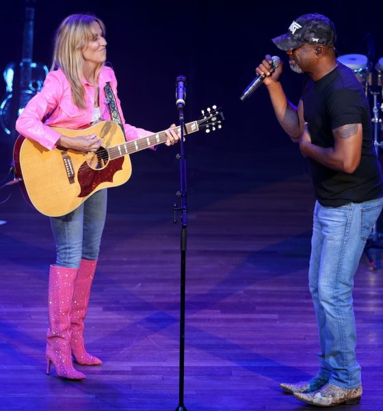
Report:
M 180 127 L 176 127 L 176 132 L 180 133 Z M 191 123 L 185 124 L 185 135 L 198 132 L 198 121 L 192 121 Z M 147 149 L 148 147 L 153 147 L 168 140 L 165 130 L 156 134 L 151 134 L 150 136 L 137 138 L 137 140 L 131 140 L 123 142 L 122 144 L 109 147 L 107 149 L 109 153 L 109 158 L 114 160 L 115 158 L 122 157 L 123 155 L 135 153 L 136 151 L 141 151 Z

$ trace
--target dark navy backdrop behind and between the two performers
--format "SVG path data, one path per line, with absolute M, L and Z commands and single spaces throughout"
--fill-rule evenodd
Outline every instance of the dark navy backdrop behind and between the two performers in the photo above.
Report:
M 23 0 L 1 2 L 1 69 L 20 59 L 24 6 Z M 176 123 L 174 88 L 179 74 L 187 77 L 187 121 L 196 119 L 209 105 L 224 108 L 224 129 L 210 136 L 190 136 L 187 141 L 192 188 L 197 179 L 208 179 L 214 170 L 224 173 L 226 169 L 233 177 L 233 189 L 237 188 L 236 180 L 250 184 L 304 171 L 305 160 L 276 122 L 265 88 L 256 90 L 244 103 L 239 100 L 265 53 L 287 61 L 270 39 L 287 32 L 294 18 L 308 12 L 326 14 L 336 25 L 339 53 L 367 55 L 366 37 L 371 34 L 373 63 L 383 56 L 381 1 L 321 1 L 314 5 L 307 1 L 38 0 L 36 62 L 50 66 L 56 27 L 68 14 L 78 12 L 96 14 L 107 27 L 107 60 L 116 71 L 119 97 L 129 123 L 153 132 Z M 285 68 L 282 82 L 294 103 L 300 97 L 302 79 L 302 75 Z M 5 84 L 3 90 L 5 95 Z M 3 133 L 0 140 L 4 174 L 9 168 L 12 142 Z M 172 167 L 177 150 L 161 147 L 157 153 L 137 153 L 133 166 L 138 170 L 140 164 L 153 164 L 154 170 L 160 170 L 163 164 Z M 243 161 L 233 160 L 241 154 Z

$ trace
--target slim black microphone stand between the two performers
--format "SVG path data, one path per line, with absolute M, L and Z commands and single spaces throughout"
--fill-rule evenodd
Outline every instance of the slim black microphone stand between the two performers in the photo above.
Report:
M 181 308 L 180 308 L 180 347 L 179 347 L 179 405 L 176 411 L 187 411 L 183 403 L 184 386 L 184 364 L 185 364 L 185 286 L 186 286 L 186 238 L 187 238 L 187 208 L 186 208 L 186 162 L 185 145 L 183 141 L 185 118 L 183 116 L 183 105 L 178 105 L 179 123 L 181 133 L 181 154 L 176 158 L 180 160 L 181 191 L 176 193 L 181 197 L 181 206 L 174 204 L 174 223 L 176 223 L 176 212 L 181 211 Z

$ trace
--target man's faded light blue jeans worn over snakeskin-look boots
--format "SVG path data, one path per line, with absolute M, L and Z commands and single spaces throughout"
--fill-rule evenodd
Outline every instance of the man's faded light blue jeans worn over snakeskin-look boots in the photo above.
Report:
M 319 373 L 342 388 L 361 385 L 352 290 L 365 243 L 383 199 L 341 207 L 315 204 L 309 286 L 317 316 Z

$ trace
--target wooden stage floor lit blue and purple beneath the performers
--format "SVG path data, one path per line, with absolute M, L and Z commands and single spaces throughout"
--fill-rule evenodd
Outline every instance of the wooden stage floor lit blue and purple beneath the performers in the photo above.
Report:
M 103 365 L 77 366 L 87 375 L 83 382 L 45 375 L 47 272 L 54 262 L 49 221 L 28 208 L 17 189 L 0 206 L 0 220 L 7 221 L 0 226 L 0 410 L 175 410 L 180 225 L 172 224 L 172 203 L 179 179 L 162 153 L 146 153 L 144 162 L 159 157 L 109 190 L 85 328 L 88 350 Z M 302 173 L 265 171 L 263 155 L 254 171 L 252 157 L 226 158 L 214 170 L 206 161 L 193 171 L 188 411 L 313 409 L 279 388 L 317 370 L 307 284 L 311 184 Z M 382 295 L 382 269 L 370 271 L 363 257 L 354 303 L 364 395 L 360 404 L 337 410 L 383 409 Z

